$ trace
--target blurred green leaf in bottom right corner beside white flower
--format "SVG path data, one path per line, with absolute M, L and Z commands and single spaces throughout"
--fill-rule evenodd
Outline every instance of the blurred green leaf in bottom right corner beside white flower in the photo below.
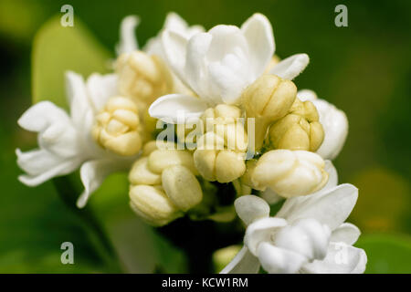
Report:
M 355 246 L 364 248 L 365 273 L 411 273 L 411 237 L 409 235 L 362 235 Z

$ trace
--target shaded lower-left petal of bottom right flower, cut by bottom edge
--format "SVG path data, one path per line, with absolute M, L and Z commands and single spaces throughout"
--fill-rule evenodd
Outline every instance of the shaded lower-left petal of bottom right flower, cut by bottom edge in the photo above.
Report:
M 243 246 L 220 274 L 258 274 L 258 270 L 258 257 L 252 255 L 248 248 Z

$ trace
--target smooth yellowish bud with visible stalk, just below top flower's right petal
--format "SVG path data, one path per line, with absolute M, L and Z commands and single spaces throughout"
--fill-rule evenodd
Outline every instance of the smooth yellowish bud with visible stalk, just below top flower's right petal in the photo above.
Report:
M 242 96 L 248 118 L 255 118 L 255 147 L 258 151 L 269 125 L 284 117 L 297 96 L 295 84 L 275 75 L 263 75 Z

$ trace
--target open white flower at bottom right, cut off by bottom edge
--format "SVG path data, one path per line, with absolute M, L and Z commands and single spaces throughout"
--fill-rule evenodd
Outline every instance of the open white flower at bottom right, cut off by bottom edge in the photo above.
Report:
M 366 255 L 353 247 L 360 231 L 344 223 L 358 190 L 336 184 L 334 175 L 321 191 L 288 199 L 275 217 L 263 199 L 238 198 L 245 245 L 221 273 L 257 273 L 260 265 L 269 273 L 363 273 Z

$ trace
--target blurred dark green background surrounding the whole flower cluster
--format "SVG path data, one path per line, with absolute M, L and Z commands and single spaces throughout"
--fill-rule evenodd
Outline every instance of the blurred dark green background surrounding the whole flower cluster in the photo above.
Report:
M 16 179 L 15 149 L 36 145 L 36 136 L 16 125 L 31 104 L 34 36 L 50 17 L 62 16 L 65 4 L 74 7 L 75 27 L 95 36 L 90 46 L 107 57 L 114 57 L 121 18 L 130 14 L 142 19 L 140 45 L 157 34 L 169 11 L 207 29 L 239 26 L 254 12 L 268 16 L 279 57 L 301 52 L 311 57 L 295 80 L 299 89 L 315 90 L 348 116 L 349 136 L 334 163 L 340 182 L 360 190 L 350 221 L 363 232 L 357 246 L 367 252 L 367 272 L 411 273 L 411 2 L 402 0 L 0 0 L 0 272 L 186 271 L 182 251 L 130 212 L 124 175 L 104 183 L 105 190 L 90 202 L 94 214 L 86 215 L 70 210 L 53 183 L 28 188 Z M 348 7 L 348 27 L 334 26 L 338 4 Z M 102 222 L 104 235 L 96 234 L 86 217 Z M 110 246 L 100 246 L 99 236 Z M 65 241 L 75 245 L 75 265 L 60 263 Z M 113 264 L 114 256 L 121 266 Z

